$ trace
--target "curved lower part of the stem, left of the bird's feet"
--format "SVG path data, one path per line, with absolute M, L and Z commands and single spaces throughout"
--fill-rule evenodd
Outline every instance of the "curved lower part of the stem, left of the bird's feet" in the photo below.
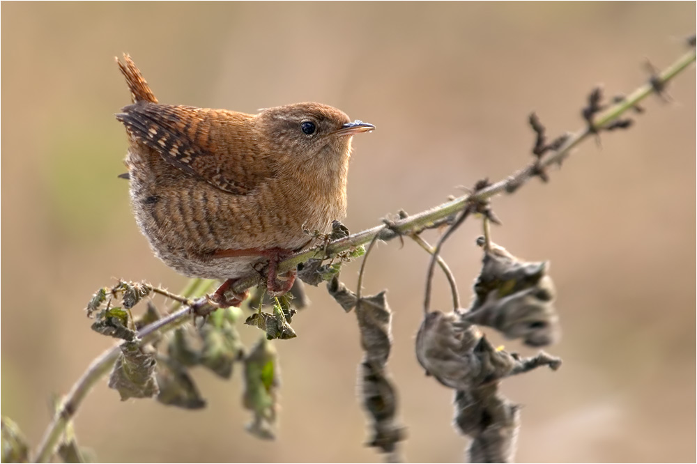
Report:
M 201 292 L 200 294 L 206 293 L 213 286 L 215 281 L 204 281 L 201 285 L 201 279 L 192 279 L 189 285 L 185 288 L 185 292 L 189 293 L 185 297 L 178 296 L 177 301 L 187 300 L 187 297 L 194 294 L 194 291 Z M 153 288 L 154 290 L 154 288 Z M 197 293 L 198 293 L 197 292 Z M 169 293 L 169 292 L 167 292 Z M 154 323 L 146 325 L 141 330 L 138 331 L 138 338 L 141 341 L 141 345 L 152 341 L 152 339 L 160 332 L 168 332 L 180 325 L 183 325 L 188 320 L 188 315 L 191 312 L 191 307 L 186 306 L 177 311 L 171 312 L 167 316 L 161 319 L 155 320 Z M 85 397 L 91 389 L 96 385 L 96 383 L 112 369 L 114 362 L 118 359 L 118 355 L 121 353 L 121 343 L 112 346 L 104 353 L 99 355 L 93 362 L 89 365 L 87 370 L 82 374 L 82 377 L 72 385 L 70 392 L 63 397 L 59 408 L 56 409 L 53 420 L 49 424 L 48 428 L 44 432 L 43 438 L 39 444 L 36 451 L 34 462 L 36 463 L 46 463 L 48 462 L 58 446 L 61 435 L 66 430 L 66 426 L 75 416 L 75 413 L 82 405 Z

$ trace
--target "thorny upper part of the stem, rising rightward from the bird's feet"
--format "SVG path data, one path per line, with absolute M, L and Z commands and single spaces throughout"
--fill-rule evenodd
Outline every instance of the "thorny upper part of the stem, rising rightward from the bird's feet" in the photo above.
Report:
M 678 75 L 682 70 L 686 69 L 691 63 L 695 61 L 695 49 L 691 49 L 689 53 L 684 54 L 679 59 L 670 65 L 666 70 L 659 73 L 655 77 L 655 81 L 659 86 L 664 86 L 673 77 Z M 641 100 L 644 100 L 652 93 L 656 93 L 657 86 L 651 83 L 645 84 L 636 89 L 631 95 L 629 95 L 625 100 L 618 102 L 612 107 L 608 108 L 602 114 L 599 114 L 595 118 L 595 129 L 600 129 L 606 125 L 616 121 L 622 114 L 629 111 L 629 109 L 634 108 Z M 298 252 L 293 256 L 281 261 L 278 264 L 278 272 L 285 272 L 296 268 L 300 263 L 304 263 L 311 258 L 328 258 L 331 256 L 336 256 L 339 253 L 346 252 L 350 249 L 358 247 L 360 245 L 365 245 L 366 243 L 373 240 L 376 236 L 380 240 L 392 240 L 399 235 L 410 235 L 412 233 L 419 233 L 424 229 L 432 229 L 445 220 L 447 220 L 452 215 L 457 214 L 457 212 L 463 210 L 468 203 L 473 203 L 475 201 L 484 201 L 490 199 L 492 196 L 496 196 L 502 193 L 512 193 L 518 187 L 521 187 L 528 182 L 531 178 L 535 177 L 536 172 L 539 169 L 544 169 L 545 167 L 551 166 L 551 164 L 560 164 L 567 156 L 572 148 L 575 148 L 581 143 L 581 141 L 588 138 L 589 135 L 593 134 L 591 127 L 583 127 L 582 129 L 569 134 L 569 138 L 562 144 L 556 151 L 549 152 L 545 155 L 539 163 L 529 164 L 516 171 L 512 176 L 499 180 L 496 183 L 489 185 L 481 190 L 477 190 L 473 194 L 468 194 L 460 196 L 457 199 L 443 203 L 440 206 L 431 208 L 426 211 L 422 211 L 416 215 L 406 217 L 404 219 L 397 219 L 393 224 L 390 224 L 389 229 L 385 229 L 384 226 L 376 226 L 372 229 L 367 229 L 362 232 L 354 233 L 345 238 L 340 238 L 327 245 L 321 245 L 318 247 L 313 247 L 307 249 L 303 252 Z M 262 278 L 258 273 L 247 274 L 246 277 L 239 279 L 233 286 L 233 290 L 236 292 L 243 292 L 247 288 L 260 284 Z

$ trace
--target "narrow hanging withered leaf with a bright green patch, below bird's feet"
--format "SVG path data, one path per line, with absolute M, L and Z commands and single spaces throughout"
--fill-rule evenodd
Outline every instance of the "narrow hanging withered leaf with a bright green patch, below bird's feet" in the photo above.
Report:
M 280 385 L 278 355 L 273 344 L 259 340 L 245 358 L 245 392 L 243 405 L 254 412 L 247 431 L 257 438 L 273 440 Z

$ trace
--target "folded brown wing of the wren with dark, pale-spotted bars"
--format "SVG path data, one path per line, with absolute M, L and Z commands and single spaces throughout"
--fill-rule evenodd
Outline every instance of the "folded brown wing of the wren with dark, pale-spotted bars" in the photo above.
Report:
M 246 195 L 275 175 L 273 165 L 258 158 L 254 137 L 226 126 L 230 118 L 241 114 L 151 102 L 138 102 L 122 111 L 116 119 L 136 141 L 220 190 Z

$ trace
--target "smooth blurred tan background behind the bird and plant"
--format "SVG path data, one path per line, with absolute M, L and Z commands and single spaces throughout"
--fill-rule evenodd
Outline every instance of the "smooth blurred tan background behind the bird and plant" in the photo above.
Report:
M 317 101 L 376 125 L 353 144 L 345 223 L 359 231 L 507 176 L 530 160 L 530 111 L 551 136 L 579 129 L 593 86 L 641 85 L 646 59 L 664 68 L 686 51 L 695 15 L 694 2 L 3 3 L 2 414 L 36 446 L 49 396 L 113 343 L 83 311 L 97 288 L 186 282 L 153 257 L 116 178 L 126 138 L 113 114 L 130 100 L 114 56 L 129 52 L 160 102 L 254 112 Z M 503 385 L 525 406 L 518 461 L 695 459 L 694 68 L 668 93 L 631 130 L 586 141 L 549 185 L 493 203 L 504 223 L 493 240 L 551 261 L 564 330 L 548 348 L 560 371 Z M 467 222 L 443 252 L 465 299 L 477 235 Z M 407 460 L 460 462 L 452 394 L 413 353 L 427 262 L 412 242 L 382 244 L 365 293 L 389 289 Z M 342 272 L 352 288 L 358 269 Z M 440 275 L 436 291 L 449 309 Z M 276 344 L 276 442 L 243 430 L 239 371 L 224 382 L 201 369 L 208 408 L 197 412 L 122 403 L 100 382 L 75 419 L 79 442 L 100 461 L 379 461 L 363 446 L 355 316 L 322 286 L 308 293 L 298 338 Z M 260 334 L 239 330 L 248 345 Z

